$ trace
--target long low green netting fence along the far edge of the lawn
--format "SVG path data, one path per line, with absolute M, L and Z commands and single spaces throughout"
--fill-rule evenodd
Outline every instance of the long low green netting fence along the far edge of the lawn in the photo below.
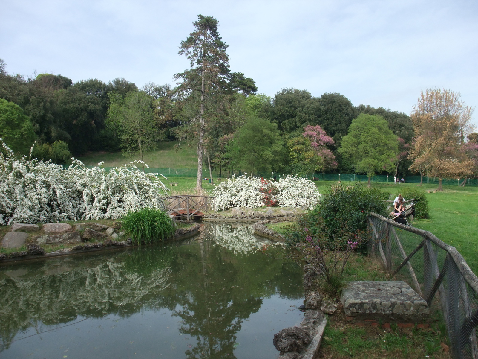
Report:
M 87 166 L 88 168 L 92 168 L 94 166 Z M 106 170 L 109 170 L 111 167 L 105 167 Z M 145 168 L 146 172 L 156 172 L 161 173 L 166 177 L 196 177 L 197 176 L 197 168 Z M 236 172 L 236 176 L 242 175 L 244 172 L 239 171 Z M 232 173 L 229 174 L 232 176 Z M 279 173 L 279 172 L 259 172 L 253 173 L 254 177 L 263 177 L 263 178 L 276 178 L 279 179 L 282 176 L 286 176 L 287 173 Z M 203 168 L 203 178 L 209 178 L 209 169 Z M 217 178 L 227 178 L 228 172 L 221 171 L 219 176 L 219 171 L 213 170 L 212 177 Z M 308 179 L 318 180 L 318 181 L 343 181 L 343 182 L 367 182 L 368 177 L 367 175 L 359 175 L 359 174 L 343 174 L 343 173 L 310 173 L 307 176 Z M 400 177 L 402 179 L 402 177 Z M 403 177 L 405 183 L 420 183 L 420 176 L 405 176 Z M 373 176 L 372 182 L 388 182 L 393 183 L 393 176 Z M 444 185 L 452 185 L 458 186 L 463 182 L 463 179 L 443 179 L 442 184 Z M 423 177 L 423 184 L 436 184 L 438 185 L 438 178 L 434 177 Z M 467 179 L 467 186 L 478 186 L 478 179 L 477 178 L 470 178 Z

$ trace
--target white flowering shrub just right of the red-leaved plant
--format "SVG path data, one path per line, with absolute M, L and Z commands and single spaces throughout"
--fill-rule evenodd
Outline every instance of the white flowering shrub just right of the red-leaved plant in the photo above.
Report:
M 315 183 L 303 177 L 288 175 L 281 177 L 274 184 L 279 191 L 276 196 L 279 207 L 306 206 L 308 209 L 312 209 L 320 200 L 321 194 Z

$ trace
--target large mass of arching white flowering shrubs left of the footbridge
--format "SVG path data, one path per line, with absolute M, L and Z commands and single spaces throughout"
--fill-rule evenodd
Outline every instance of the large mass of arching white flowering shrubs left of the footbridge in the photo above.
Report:
M 158 178 L 163 175 L 144 174 L 135 162 L 106 171 L 74 160 L 63 168 L 31 159 L 32 151 L 30 157 L 15 159 L 0 142 L 1 225 L 115 219 L 144 207 L 165 209 L 162 198 L 168 189 Z

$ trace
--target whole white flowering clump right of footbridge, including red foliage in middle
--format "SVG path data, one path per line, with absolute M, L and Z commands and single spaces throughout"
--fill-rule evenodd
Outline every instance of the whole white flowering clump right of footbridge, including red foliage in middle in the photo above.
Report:
M 245 175 L 224 180 L 212 191 L 217 208 L 223 211 L 231 207 L 257 208 L 277 202 L 280 207 L 305 205 L 312 209 L 320 200 L 321 195 L 314 182 L 302 177 L 288 175 L 277 182 L 264 182 L 263 179 Z

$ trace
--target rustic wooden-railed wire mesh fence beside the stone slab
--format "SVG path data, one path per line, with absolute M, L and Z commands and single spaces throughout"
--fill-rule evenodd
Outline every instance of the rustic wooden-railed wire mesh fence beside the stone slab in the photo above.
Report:
M 478 278 L 455 247 L 432 233 L 376 213 L 369 215 L 369 254 L 391 276 L 404 280 L 429 306 L 442 309 L 456 359 L 477 359 Z

